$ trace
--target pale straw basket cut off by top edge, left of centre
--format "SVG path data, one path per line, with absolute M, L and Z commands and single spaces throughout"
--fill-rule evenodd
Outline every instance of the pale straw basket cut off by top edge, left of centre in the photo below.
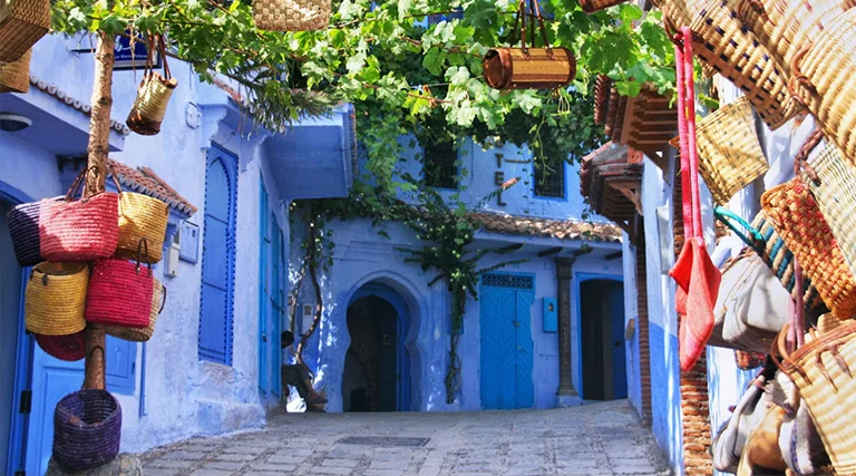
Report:
M 330 25 L 330 0 L 255 0 L 253 21 L 260 30 L 321 30 Z

